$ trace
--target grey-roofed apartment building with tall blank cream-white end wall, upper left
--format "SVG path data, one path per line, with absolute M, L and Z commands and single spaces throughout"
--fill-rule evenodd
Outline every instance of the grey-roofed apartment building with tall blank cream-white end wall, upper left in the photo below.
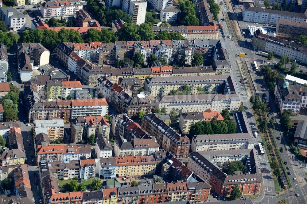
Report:
M 41 43 L 18 43 L 18 55 L 23 52 L 25 52 L 31 60 L 34 60 L 34 64 L 37 66 L 49 63 L 50 51 L 42 46 Z

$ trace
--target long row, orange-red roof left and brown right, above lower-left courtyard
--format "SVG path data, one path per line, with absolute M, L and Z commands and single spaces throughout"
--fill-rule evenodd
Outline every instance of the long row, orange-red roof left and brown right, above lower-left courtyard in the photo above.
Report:
M 37 162 L 42 160 L 48 161 L 60 161 L 63 159 L 67 160 L 79 160 L 80 157 L 91 157 L 91 146 L 90 145 L 49 145 L 43 142 L 37 146 Z

